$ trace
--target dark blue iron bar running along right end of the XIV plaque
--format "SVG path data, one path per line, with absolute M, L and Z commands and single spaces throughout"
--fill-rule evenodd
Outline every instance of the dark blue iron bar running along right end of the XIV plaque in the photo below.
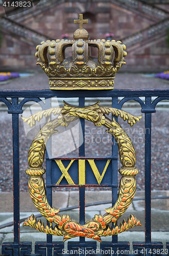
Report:
M 118 109 L 118 97 L 112 98 L 112 108 Z M 116 121 L 118 121 L 118 118 L 115 117 Z M 112 157 L 118 157 L 118 144 L 112 136 Z M 118 160 L 111 160 L 112 162 L 112 184 L 115 184 L 118 186 Z M 118 187 L 112 187 L 112 206 L 115 205 L 117 201 L 117 196 L 118 196 Z M 113 225 L 113 224 L 112 224 Z M 112 244 L 117 244 L 118 243 L 118 236 L 112 236 Z

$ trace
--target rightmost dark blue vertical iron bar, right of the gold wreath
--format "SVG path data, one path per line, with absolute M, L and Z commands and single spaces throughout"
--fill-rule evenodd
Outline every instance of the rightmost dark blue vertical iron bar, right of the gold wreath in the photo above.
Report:
M 145 243 L 151 243 L 151 113 L 145 113 Z

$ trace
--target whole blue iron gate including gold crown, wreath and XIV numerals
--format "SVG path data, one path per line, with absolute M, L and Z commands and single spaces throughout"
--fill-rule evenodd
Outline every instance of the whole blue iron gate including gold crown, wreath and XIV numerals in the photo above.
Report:
M 37 64 L 41 66 L 49 78 L 50 90 L 4 90 L 0 92 L 0 101 L 8 107 L 12 114 L 13 129 L 13 187 L 14 187 L 14 241 L 3 243 L 3 254 L 27 255 L 32 252 L 32 242 L 19 241 L 19 114 L 23 112 L 23 104 L 28 101 L 39 102 L 42 110 L 22 117 L 23 121 L 33 127 L 45 117 L 46 123 L 40 127 L 33 139 L 28 153 L 29 167 L 25 172 L 29 176 L 29 193 L 35 207 L 47 220 L 47 225 L 31 215 L 23 226 L 30 226 L 46 233 L 46 241 L 35 243 L 35 254 L 40 255 L 123 255 L 129 254 L 128 241 L 118 241 L 118 234 L 134 226 L 140 225 L 136 217 L 130 215 L 128 220 L 118 224 L 118 219 L 132 203 L 136 190 L 135 167 L 136 156 L 131 139 L 117 122 L 118 117 L 132 126 L 142 118 L 121 110 L 128 100 L 137 101 L 145 114 L 145 241 L 133 241 L 133 253 L 162 254 L 162 242 L 151 242 L 151 115 L 161 100 L 169 100 L 169 90 L 117 90 L 114 89 L 116 73 L 125 64 L 126 46 L 121 41 L 95 39 L 88 40 L 89 33 L 83 29 L 88 23 L 79 14 L 74 20 L 79 29 L 74 32 L 74 40 L 57 39 L 42 41 L 37 46 Z M 65 58 L 65 49 L 71 47 L 72 56 Z M 90 56 L 90 47 L 98 48 L 98 58 Z M 114 89 L 114 90 L 112 90 Z M 78 106 L 64 102 L 64 106 L 51 107 L 47 99 L 78 98 Z M 20 99 L 19 99 L 20 98 Z M 101 106 L 99 102 L 85 106 L 86 98 L 100 98 L 106 103 L 111 98 L 111 107 Z M 42 101 L 45 99 L 45 103 Z M 106 100 L 105 100 L 106 99 Z M 51 119 L 51 114 L 56 118 Z M 112 115 L 112 118 L 109 117 Z M 78 136 L 78 156 L 51 154 L 51 135 L 60 126 L 69 126 L 72 121 L 80 120 Z M 85 154 L 85 120 L 95 126 L 105 126 L 107 132 L 114 136 L 111 155 L 86 156 Z M 48 143 L 48 150 L 46 151 Z M 57 142 L 56 142 L 57 143 Z M 62 143 L 62 142 L 61 142 Z M 59 146 L 59 143 L 58 143 Z M 43 160 L 46 151 L 46 170 Z M 118 193 L 118 151 L 122 167 L 119 169 L 121 180 Z M 46 172 L 46 188 L 43 175 Z M 59 214 L 60 209 L 52 207 L 53 187 L 77 187 L 79 189 L 79 223 L 71 216 Z M 85 222 L 85 188 L 110 187 L 112 191 L 112 207 L 105 209 L 105 214 L 95 214 L 92 220 Z M 101 192 L 100 192 L 101 193 Z M 52 224 L 55 226 L 52 226 Z M 112 225 L 112 226 L 111 226 Z M 52 236 L 63 237 L 63 242 L 52 242 Z M 101 242 L 102 237 L 112 237 L 112 241 Z M 78 241 L 79 237 L 79 241 Z M 64 241 L 68 241 L 64 251 Z M 91 239 L 86 240 L 86 238 Z M 97 241 L 97 242 L 96 242 Z M 34 245 L 33 245 L 34 246 Z M 169 249 L 169 243 L 166 249 Z M 151 250 L 151 249 L 154 249 Z M 70 252 L 70 253 L 69 253 Z

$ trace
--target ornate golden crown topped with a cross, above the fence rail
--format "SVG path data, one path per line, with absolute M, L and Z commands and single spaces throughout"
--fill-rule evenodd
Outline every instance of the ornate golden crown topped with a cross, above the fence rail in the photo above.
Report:
M 116 73 L 125 64 L 126 46 L 115 40 L 88 40 L 89 33 L 83 29 L 88 19 L 79 19 L 79 29 L 74 32 L 74 40 L 47 40 L 37 46 L 35 54 L 49 78 L 52 90 L 105 90 L 114 89 Z M 89 47 L 97 47 L 98 58 L 90 56 Z M 65 58 L 65 49 L 72 47 L 72 56 Z

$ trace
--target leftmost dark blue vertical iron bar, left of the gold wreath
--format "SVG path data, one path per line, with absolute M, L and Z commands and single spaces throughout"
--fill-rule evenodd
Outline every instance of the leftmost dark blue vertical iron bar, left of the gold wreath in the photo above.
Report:
M 12 98 L 12 104 L 18 105 L 18 98 Z M 14 213 L 14 244 L 19 244 L 19 114 L 12 113 L 13 137 L 13 213 Z M 15 250 L 16 251 L 16 250 Z

